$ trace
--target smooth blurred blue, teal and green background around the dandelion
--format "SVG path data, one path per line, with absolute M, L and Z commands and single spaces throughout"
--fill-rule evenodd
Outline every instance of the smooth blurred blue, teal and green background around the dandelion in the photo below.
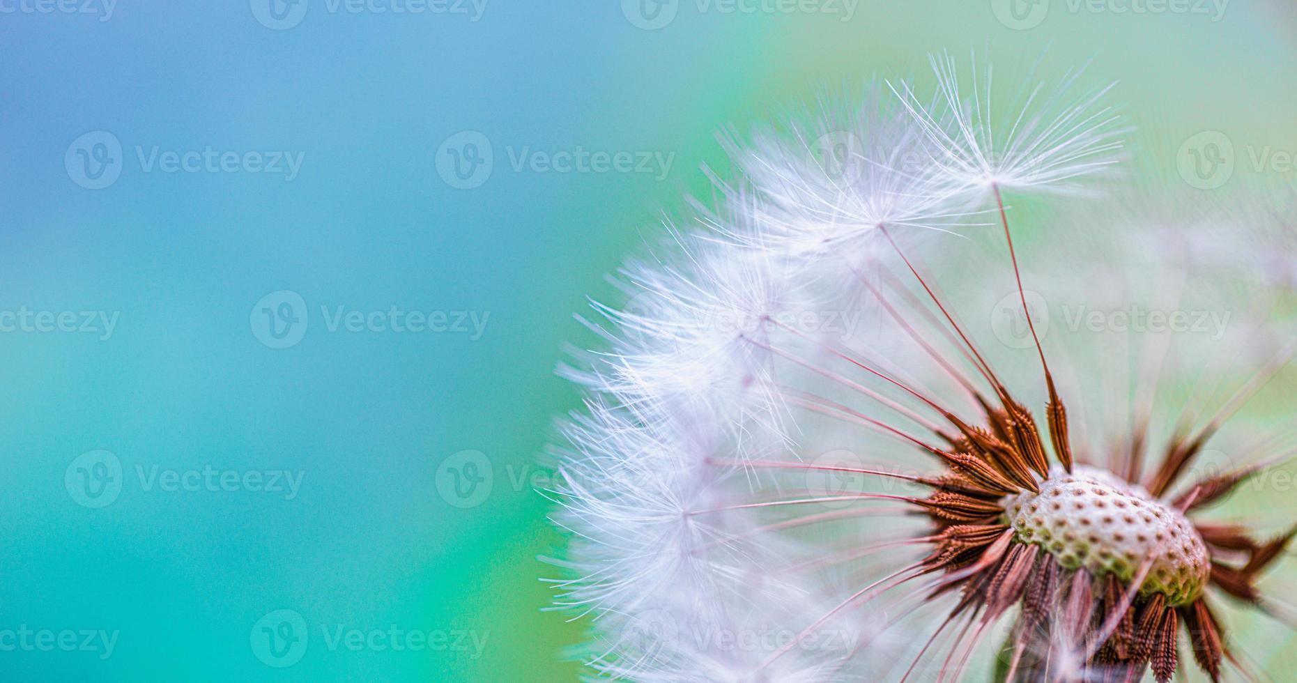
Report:
M 1297 150 L 1287 3 L 1114 3 L 0 1 L 0 678 L 575 679 L 553 365 L 720 127 L 1052 45 Z

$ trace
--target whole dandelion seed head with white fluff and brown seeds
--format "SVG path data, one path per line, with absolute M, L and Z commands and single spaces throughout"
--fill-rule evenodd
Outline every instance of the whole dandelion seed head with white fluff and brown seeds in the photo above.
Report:
M 1073 192 L 1115 121 L 1030 91 L 992 137 L 936 65 L 946 114 L 900 87 L 850 126 L 921 168 L 843 183 L 799 152 L 837 121 L 734 143 L 743 180 L 595 305 L 550 492 L 593 675 L 1255 679 L 1231 634 L 1297 626 L 1297 527 L 1231 516 L 1297 457 L 1254 400 L 1294 351 L 1284 214 L 1141 191 L 1014 245 L 1000 188 Z M 939 226 L 988 189 L 999 229 Z

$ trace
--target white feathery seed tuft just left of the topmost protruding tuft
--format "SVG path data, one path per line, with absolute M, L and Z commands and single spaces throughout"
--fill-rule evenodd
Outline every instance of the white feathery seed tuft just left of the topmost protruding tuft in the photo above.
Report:
M 940 228 L 965 218 L 948 214 L 951 188 L 933 174 L 935 150 L 891 93 L 874 86 L 860 97 L 824 96 L 790 121 L 786 131 L 722 137 L 744 184 L 717 184 L 760 226 L 738 238 L 820 267 L 826 257 L 859 266 L 879 224 Z

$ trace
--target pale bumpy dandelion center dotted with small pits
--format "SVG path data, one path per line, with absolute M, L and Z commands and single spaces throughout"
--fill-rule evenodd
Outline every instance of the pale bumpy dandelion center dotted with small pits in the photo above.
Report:
M 1163 594 L 1172 605 L 1196 600 L 1210 577 L 1208 548 L 1184 515 L 1101 469 L 1056 467 L 1039 494 L 1006 496 L 1004 509 L 1018 540 L 1067 569 L 1128 582 L 1150 562 L 1140 592 Z

